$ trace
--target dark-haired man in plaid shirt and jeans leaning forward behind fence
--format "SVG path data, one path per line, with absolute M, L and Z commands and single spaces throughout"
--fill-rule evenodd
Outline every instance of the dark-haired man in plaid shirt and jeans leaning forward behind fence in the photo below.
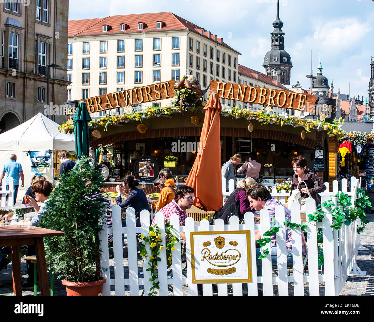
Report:
M 285 207 L 278 199 L 272 199 L 269 190 L 267 190 L 263 185 L 254 185 L 248 190 L 248 200 L 252 208 L 260 211 L 261 209 L 267 209 L 269 211 L 270 220 L 275 217 L 275 207 L 282 205 L 284 207 L 285 217 L 288 222 L 291 222 L 291 213 L 288 208 Z M 291 229 L 286 230 L 287 240 L 287 265 L 292 266 L 292 239 L 291 239 Z M 260 230 L 255 231 L 255 239 L 261 238 Z M 304 234 L 301 234 L 301 243 L 303 245 L 303 254 L 307 253 L 307 247 L 305 242 Z M 270 254 L 272 255 L 272 264 L 277 264 L 277 248 L 276 248 L 276 235 L 271 237 L 271 247 Z M 256 258 L 257 258 L 257 276 L 262 276 L 262 265 L 260 256 L 260 248 L 256 248 Z M 262 285 L 259 287 L 261 288 Z

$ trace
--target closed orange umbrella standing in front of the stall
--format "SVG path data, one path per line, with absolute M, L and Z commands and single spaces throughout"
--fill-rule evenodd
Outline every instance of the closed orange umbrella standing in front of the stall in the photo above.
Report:
M 217 92 L 212 92 L 204 107 L 205 117 L 201 131 L 199 151 L 188 175 L 186 186 L 195 189 L 194 205 L 205 211 L 222 206 L 221 134 L 222 109 Z

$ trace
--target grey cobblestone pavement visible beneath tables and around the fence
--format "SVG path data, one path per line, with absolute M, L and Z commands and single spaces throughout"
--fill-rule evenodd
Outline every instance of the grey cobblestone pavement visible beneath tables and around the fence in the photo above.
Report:
M 373 202 L 374 204 L 374 202 Z M 357 265 L 361 270 L 366 270 L 366 276 L 350 276 L 347 279 L 346 284 L 343 287 L 343 290 L 340 292 L 340 295 L 346 296 L 357 296 L 357 295 L 374 295 L 374 214 L 367 214 L 370 223 L 367 225 L 364 232 L 361 233 L 361 244 L 368 248 L 368 250 L 359 250 L 357 257 Z M 125 239 L 124 255 L 127 256 L 127 244 Z M 110 276 L 114 278 L 114 261 L 111 259 L 110 263 Z M 128 261 L 127 258 L 123 260 L 124 266 L 124 275 L 125 278 L 128 278 Z M 138 255 L 138 266 L 139 266 L 139 277 L 142 277 L 142 260 Z M 0 295 L 13 295 L 13 286 L 12 286 L 12 265 L 8 265 L 7 270 L 2 270 L 0 272 Z M 21 275 L 23 278 L 27 278 L 26 271 L 26 261 L 21 259 Z M 56 275 L 57 276 L 57 275 Z M 24 279 L 22 279 L 24 280 Z M 62 279 L 55 278 L 55 296 L 66 296 L 66 290 L 64 285 L 61 284 Z M 323 284 L 323 283 L 322 283 Z M 306 290 L 306 295 L 308 294 L 308 285 L 304 285 Z M 142 293 L 142 287 L 139 294 Z M 111 286 L 111 295 L 115 295 L 114 285 Z M 231 285 L 228 286 L 229 295 L 232 291 Z M 276 285 L 274 285 L 274 294 L 277 295 L 278 290 Z M 129 295 L 129 287 L 125 287 L 125 295 Z M 183 294 L 188 295 L 188 288 L 186 285 L 183 287 Z M 33 296 L 34 290 L 23 290 L 22 295 L 24 296 Z M 39 287 L 37 288 L 37 295 L 40 296 Z M 169 291 L 169 295 L 172 295 L 172 292 Z M 217 294 L 215 294 L 217 295 Z M 232 293 L 231 293 L 232 295 Z M 289 284 L 289 295 L 293 295 L 293 285 Z M 324 295 L 324 287 L 320 287 L 320 295 Z

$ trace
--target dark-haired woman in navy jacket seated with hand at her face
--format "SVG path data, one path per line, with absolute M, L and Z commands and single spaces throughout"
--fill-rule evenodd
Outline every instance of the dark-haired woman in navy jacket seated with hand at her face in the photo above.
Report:
M 116 191 L 118 193 L 118 197 L 116 198 L 116 202 L 121 208 L 132 207 L 135 209 L 136 225 L 140 227 L 140 212 L 143 209 L 149 211 L 149 204 L 144 191 L 137 188 L 138 185 L 139 181 L 134 179 L 133 176 L 130 174 L 125 176 L 122 180 L 122 187 L 125 188 L 125 192 L 128 193 L 127 199 L 122 201 L 122 187 L 121 185 L 117 185 Z M 122 220 L 122 227 L 126 227 L 126 219 Z

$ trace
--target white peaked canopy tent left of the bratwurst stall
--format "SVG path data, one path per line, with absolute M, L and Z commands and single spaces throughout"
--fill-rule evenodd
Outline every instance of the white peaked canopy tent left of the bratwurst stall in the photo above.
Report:
M 3 165 L 10 160 L 11 154 L 17 155 L 17 162 L 22 165 L 25 175 L 25 186 L 19 185 L 18 200 L 21 200 L 25 190 L 30 186 L 33 173 L 31 173 L 31 160 L 28 151 L 51 151 L 52 168 L 45 168 L 44 176 L 53 182 L 53 151 L 75 151 L 74 134 L 60 133 L 58 124 L 42 113 L 19 126 L 0 134 L 0 171 Z M 21 193 L 24 190 L 23 193 Z

